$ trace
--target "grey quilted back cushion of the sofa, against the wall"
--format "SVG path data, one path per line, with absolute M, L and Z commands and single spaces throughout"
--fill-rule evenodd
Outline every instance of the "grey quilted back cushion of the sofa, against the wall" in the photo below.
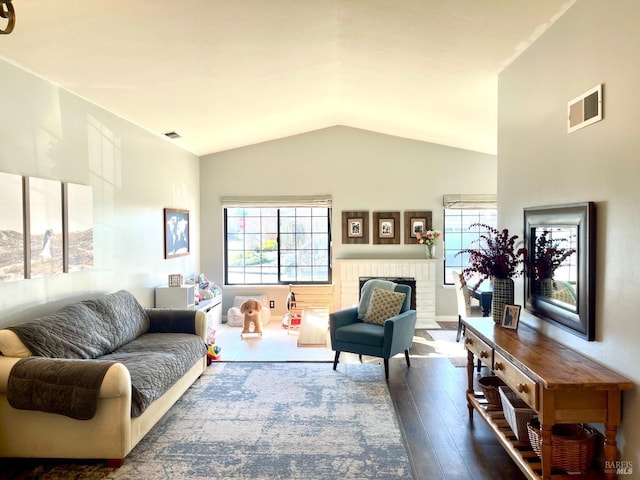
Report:
M 149 329 L 149 319 L 136 298 L 121 290 L 8 328 L 33 355 L 89 359 L 140 336 Z

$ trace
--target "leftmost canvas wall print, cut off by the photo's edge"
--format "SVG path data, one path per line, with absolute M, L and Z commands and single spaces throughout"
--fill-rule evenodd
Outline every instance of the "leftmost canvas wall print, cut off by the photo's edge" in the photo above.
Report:
M 0 282 L 24 279 L 22 177 L 0 172 Z

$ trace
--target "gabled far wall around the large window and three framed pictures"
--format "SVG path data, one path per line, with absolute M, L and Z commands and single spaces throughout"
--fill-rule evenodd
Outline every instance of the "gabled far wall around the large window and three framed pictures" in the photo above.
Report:
M 374 211 L 431 210 L 434 228 L 442 230 L 442 195 L 495 193 L 496 157 L 338 126 L 203 157 L 200 175 L 202 268 L 222 284 L 222 196 L 330 194 L 334 259 L 424 258 L 419 245 L 343 245 L 342 211 L 368 210 L 371 222 Z M 440 262 L 436 315 L 456 315 L 442 275 Z M 274 313 L 284 313 L 286 292 L 263 287 L 226 289 L 225 312 L 240 291 L 268 291 Z

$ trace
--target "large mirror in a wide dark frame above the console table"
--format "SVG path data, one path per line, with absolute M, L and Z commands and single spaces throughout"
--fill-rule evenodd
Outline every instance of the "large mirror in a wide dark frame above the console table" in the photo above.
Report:
M 572 333 L 595 338 L 595 204 L 524 209 L 525 308 Z

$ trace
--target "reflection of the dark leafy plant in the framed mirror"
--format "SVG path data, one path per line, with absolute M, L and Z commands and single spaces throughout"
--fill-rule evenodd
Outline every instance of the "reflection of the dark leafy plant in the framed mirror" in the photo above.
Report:
M 536 234 L 532 258 L 525 261 L 527 271 L 534 281 L 538 294 L 550 297 L 553 292 L 555 271 L 576 252 L 575 248 L 565 248 L 561 244 L 566 239 L 553 238 L 549 230 Z

